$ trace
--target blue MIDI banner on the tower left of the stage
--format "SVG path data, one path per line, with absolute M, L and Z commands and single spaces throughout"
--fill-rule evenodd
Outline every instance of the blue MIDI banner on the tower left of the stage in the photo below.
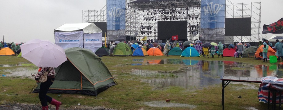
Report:
M 126 29 L 126 0 L 107 0 L 107 30 Z

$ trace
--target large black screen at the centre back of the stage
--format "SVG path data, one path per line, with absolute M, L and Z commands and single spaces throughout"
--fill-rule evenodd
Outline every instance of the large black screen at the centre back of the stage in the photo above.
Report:
M 188 21 L 158 21 L 157 22 L 157 39 L 163 42 L 165 39 L 170 39 L 174 35 L 178 35 L 178 40 L 187 41 Z

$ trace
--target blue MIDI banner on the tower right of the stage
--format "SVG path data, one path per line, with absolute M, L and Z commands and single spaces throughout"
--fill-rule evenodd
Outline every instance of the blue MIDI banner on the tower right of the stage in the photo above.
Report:
M 225 0 L 201 0 L 201 28 L 225 27 Z

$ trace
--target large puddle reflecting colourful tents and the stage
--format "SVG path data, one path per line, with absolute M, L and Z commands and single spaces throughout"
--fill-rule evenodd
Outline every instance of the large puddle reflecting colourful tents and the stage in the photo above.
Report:
M 155 60 L 156 61 L 156 60 Z M 154 60 L 146 61 L 155 64 Z M 173 61 L 173 62 L 171 62 Z M 196 65 L 188 66 L 188 69 L 182 72 L 157 72 L 147 70 L 133 70 L 132 74 L 150 79 L 143 79 L 157 86 L 182 86 L 184 88 L 202 88 L 208 85 L 221 83 L 221 76 L 240 76 L 261 78 L 265 76 L 274 76 L 282 78 L 283 65 L 251 65 L 238 63 L 234 61 L 202 61 L 187 59 L 163 59 L 157 62 L 167 62 L 170 64 Z M 172 74 L 174 77 L 172 77 Z M 154 78 L 152 78 L 154 77 Z

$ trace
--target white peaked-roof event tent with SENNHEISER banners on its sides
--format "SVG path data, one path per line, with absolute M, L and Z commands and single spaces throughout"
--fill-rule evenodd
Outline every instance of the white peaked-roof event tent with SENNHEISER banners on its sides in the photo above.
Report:
M 94 23 L 64 24 L 54 29 L 55 44 L 63 49 L 80 47 L 93 52 L 102 47 L 102 31 Z

